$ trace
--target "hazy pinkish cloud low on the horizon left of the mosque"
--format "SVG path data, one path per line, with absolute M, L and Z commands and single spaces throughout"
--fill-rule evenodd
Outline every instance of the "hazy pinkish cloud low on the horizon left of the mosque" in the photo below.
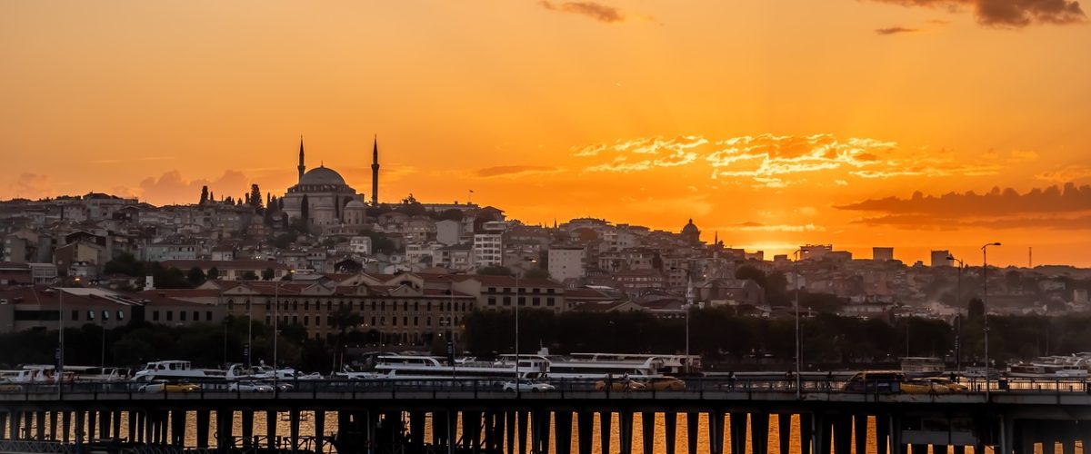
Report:
M 228 170 L 218 179 L 184 180 L 182 174 L 172 170 L 159 177 L 149 176 L 140 182 L 141 198 L 155 205 L 192 204 L 201 196 L 201 186 L 208 186 L 217 199 L 221 197 L 241 197 L 250 191 L 250 183 L 242 172 Z

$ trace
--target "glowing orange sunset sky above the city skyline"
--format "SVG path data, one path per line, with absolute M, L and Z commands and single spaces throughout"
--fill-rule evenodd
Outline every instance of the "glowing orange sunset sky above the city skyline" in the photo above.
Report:
M 1091 267 L 1071 0 L 0 2 L 0 198 L 370 199 Z M 472 194 L 470 194 L 472 191 Z

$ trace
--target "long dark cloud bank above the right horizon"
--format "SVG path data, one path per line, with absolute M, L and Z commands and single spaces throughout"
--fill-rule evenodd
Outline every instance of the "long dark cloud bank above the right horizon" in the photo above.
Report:
M 986 194 L 968 192 L 942 196 L 913 193 L 910 198 L 886 197 L 842 205 L 842 210 L 883 212 L 890 216 L 916 214 L 944 219 L 967 217 L 1003 217 L 1021 213 L 1076 213 L 1091 211 L 1091 186 L 1050 186 L 1024 194 L 999 187 Z

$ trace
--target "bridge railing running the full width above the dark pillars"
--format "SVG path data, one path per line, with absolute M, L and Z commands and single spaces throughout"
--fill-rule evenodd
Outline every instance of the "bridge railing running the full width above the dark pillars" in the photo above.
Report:
M 516 385 L 513 380 L 500 378 L 434 378 L 434 379 L 367 379 L 367 380 L 284 380 L 243 381 L 243 384 L 225 380 L 156 383 L 148 386 L 139 382 L 63 382 L 63 383 L 16 383 L 0 389 L 0 400 L 25 396 L 29 398 L 48 395 L 91 394 L 95 398 L 121 395 L 148 394 L 209 394 L 216 398 L 229 396 L 317 396 L 326 393 L 343 394 L 388 394 L 397 396 L 408 393 L 431 393 L 434 395 L 478 395 L 482 393 L 684 393 L 684 392 L 728 392 L 728 393 L 983 393 L 984 379 L 962 379 L 957 385 L 926 382 L 851 381 L 843 378 L 806 377 L 796 380 L 792 376 L 783 378 L 754 377 L 690 377 L 670 380 L 586 380 L 553 379 Z M 259 386 L 254 386 L 257 384 Z M 1087 379 L 993 379 L 988 382 L 992 392 L 1009 393 L 1089 393 Z

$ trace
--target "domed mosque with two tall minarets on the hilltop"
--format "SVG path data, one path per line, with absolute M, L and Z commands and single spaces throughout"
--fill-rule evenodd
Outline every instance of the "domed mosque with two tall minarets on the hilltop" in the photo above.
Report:
M 372 146 L 371 204 L 379 205 L 379 138 Z M 284 212 L 292 221 L 328 228 L 355 226 L 367 222 L 363 194 L 345 183 L 336 170 L 323 165 L 307 170 L 303 163 L 303 139 L 299 139 L 299 182 L 284 195 Z

